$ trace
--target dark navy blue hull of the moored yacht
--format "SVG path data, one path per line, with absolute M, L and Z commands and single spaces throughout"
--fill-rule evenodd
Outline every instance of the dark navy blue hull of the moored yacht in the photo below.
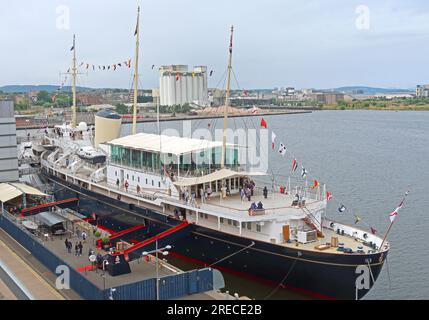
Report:
M 117 231 L 145 223 L 147 236 L 150 237 L 180 223 L 161 213 L 135 207 L 66 183 L 58 177 L 48 175 L 48 178 L 57 183 L 57 199 L 78 196 L 80 211 L 88 215 L 97 213 L 101 224 L 109 229 Z M 367 276 L 370 277 L 369 285 L 372 287 L 387 254 L 328 254 L 305 251 L 299 247 L 288 248 L 197 225 L 191 225 L 187 235 L 174 239 L 173 243 L 171 238 L 169 241 L 168 244 L 173 246 L 172 251 L 180 258 L 207 266 L 215 264 L 213 267 L 221 271 L 325 299 L 356 299 L 355 283 L 362 273 L 357 273 L 357 267 L 368 267 L 369 262 Z M 165 244 L 162 241 L 160 243 Z M 235 254 L 240 250 L 240 253 Z M 358 297 L 362 298 L 369 290 L 370 288 L 358 290 Z

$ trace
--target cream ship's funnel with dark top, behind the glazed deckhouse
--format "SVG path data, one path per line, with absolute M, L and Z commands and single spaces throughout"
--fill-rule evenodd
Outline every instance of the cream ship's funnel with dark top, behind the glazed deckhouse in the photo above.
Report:
M 112 109 L 103 109 L 95 115 L 95 147 L 120 137 L 121 116 Z

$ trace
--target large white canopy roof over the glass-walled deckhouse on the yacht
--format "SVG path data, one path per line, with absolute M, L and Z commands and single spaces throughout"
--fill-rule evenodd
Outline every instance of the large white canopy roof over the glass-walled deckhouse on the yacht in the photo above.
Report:
M 107 144 L 149 152 L 182 155 L 222 147 L 221 141 L 138 133 L 107 142 Z M 227 144 L 234 147 L 233 144 Z

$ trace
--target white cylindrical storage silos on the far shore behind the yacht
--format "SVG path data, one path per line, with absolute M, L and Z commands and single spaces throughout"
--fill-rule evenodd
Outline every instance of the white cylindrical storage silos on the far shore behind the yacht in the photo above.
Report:
M 159 69 L 160 104 L 162 106 L 195 103 L 208 105 L 207 67 L 186 65 L 162 66 Z

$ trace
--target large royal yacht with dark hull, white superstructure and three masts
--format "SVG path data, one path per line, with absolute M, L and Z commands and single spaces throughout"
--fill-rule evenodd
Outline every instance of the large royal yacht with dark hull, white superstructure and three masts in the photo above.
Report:
M 232 30 L 229 53 L 228 80 Z M 138 79 L 138 59 L 134 69 Z M 228 99 L 229 81 L 224 132 Z M 168 241 L 176 257 L 277 289 L 326 299 L 360 299 L 371 289 L 389 243 L 330 220 L 324 185 L 312 189 L 302 179 L 289 179 L 284 186 L 255 183 L 264 173 L 246 171 L 238 157 L 240 146 L 226 138 L 138 133 L 136 104 L 135 96 L 131 135 L 120 137 L 121 118 L 111 110 L 96 116 L 94 131 L 77 125 L 75 115 L 71 123 L 48 130 L 42 144 L 55 148 L 43 152 L 41 168 L 58 200 L 78 197 L 81 212 L 88 217 L 96 213 L 99 225 L 113 230 L 133 226 L 132 219 L 119 218 L 123 215 L 140 217 L 145 237 L 156 236 L 164 245 Z M 134 246 L 138 250 L 133 253 L 141 254 L 146 243 Z M 127 250 L 123 254 L 129 259 Z

